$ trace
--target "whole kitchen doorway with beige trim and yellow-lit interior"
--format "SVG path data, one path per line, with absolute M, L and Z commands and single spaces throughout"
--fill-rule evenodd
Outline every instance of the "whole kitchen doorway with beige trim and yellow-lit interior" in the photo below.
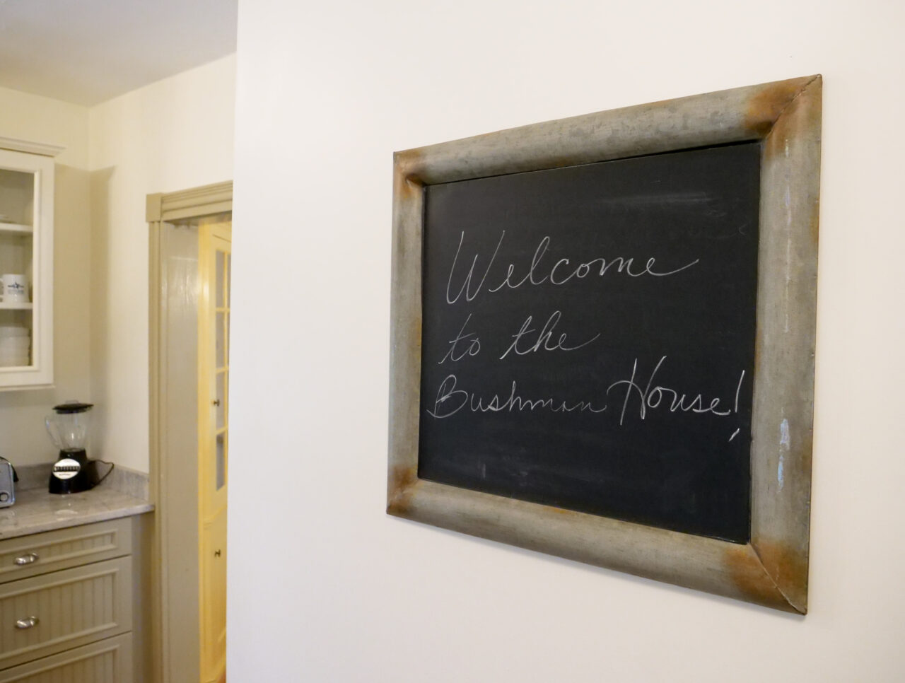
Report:
M 232 183 L 148 196 L 155 679 L 225 678 Z

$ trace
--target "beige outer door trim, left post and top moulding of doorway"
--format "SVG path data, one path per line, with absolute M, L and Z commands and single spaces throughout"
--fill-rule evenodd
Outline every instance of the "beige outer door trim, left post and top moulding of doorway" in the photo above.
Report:
M 167 431 L 166 410 L 170 386 L 167 384 L 167 357 L 164 341 L 167 338 L 168 302 L 166 296 L 166 264 L 162 261 L 163 223 L 189 221 L 216 213 L 233 211 L 233 181 L 203 185 L 172 193 L 148 194 L 146 220 L 148 221 L 148 406 L 149 406 L 149 470 L 150 496 L 155 505 L 155 523 L 152 553 L 152 679 L 160 683 L 176 683 L 169 677 L 172 653 L 169 647 L 171 613 L 170 595 L 183 577 L 167 572 L 168 549 L 164 539 L 170 525 L 170 506 L 167 490 L 170 489 L 170 469 L 167 467 L 171 453 L 162 436 Z M 195 382 L 192 378 L 191 382 Z M 191 444 L 192 448 L 197 443 Z M 197 577 L 190 577 L 197 583 Z

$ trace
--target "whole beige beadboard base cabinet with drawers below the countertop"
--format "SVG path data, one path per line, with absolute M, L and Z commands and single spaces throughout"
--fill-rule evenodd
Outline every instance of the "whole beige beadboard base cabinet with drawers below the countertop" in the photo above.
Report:
M 0 541 L 0 683 L 144 678 L 140 527 L 122 517 Z

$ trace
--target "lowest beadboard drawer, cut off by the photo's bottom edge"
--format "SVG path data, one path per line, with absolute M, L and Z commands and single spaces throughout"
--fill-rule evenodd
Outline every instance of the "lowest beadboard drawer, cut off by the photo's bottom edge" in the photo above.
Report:
M 132 635 L 0 671 L 0 683 L 127 683 L 132 679 Z

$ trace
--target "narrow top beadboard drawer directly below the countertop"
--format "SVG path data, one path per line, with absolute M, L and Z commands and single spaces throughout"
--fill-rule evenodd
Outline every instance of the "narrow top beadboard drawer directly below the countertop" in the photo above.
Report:
M 0 541 L 0 583 L 129 555 L 131 519 L 71 526 Z

